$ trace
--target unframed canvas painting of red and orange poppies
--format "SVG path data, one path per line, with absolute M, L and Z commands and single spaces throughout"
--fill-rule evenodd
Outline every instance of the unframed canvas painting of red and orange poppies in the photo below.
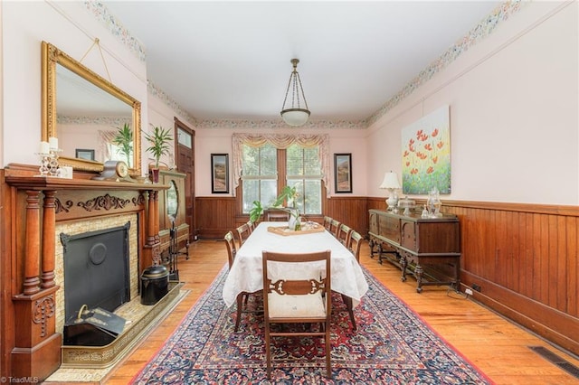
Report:
M 451 193 L 450 107 L 441 107 L 402 131 L 403 193 Z

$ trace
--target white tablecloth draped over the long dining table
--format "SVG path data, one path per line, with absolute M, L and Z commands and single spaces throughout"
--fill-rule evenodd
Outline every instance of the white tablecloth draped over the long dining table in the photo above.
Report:
M 354 305 L 359 303 L 368 290 L 362 268 L 352 253 L 332 234 L 324 231 L 282 236 L 268 231 L 270 226 L 287 227 L 287 223 L 261 222 L 237 250 L 237 256 L 223 286 L 225 305 L 233 305 L 237 295 L 242 292 L 253 293 L 263 289 L 261 251 L 307 253 L 327 249 L 331 251 L 332 290 L 351 297 Z

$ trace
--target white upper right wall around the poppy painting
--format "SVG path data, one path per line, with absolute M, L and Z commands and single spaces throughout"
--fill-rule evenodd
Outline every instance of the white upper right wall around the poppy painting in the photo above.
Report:
M 401 176 L 403 127 L 451 106 L 451 194 L 579 203 L 577 2 L 533 2 L 368 130 L 368 195 Z M 400 177 L 402 180 L 402 177 Z

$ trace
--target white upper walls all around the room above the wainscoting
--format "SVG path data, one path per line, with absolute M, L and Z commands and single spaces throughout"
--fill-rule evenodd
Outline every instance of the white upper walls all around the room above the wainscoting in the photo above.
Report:
M 172 126 L 173 116 L 179 116 L 147 94 L 145 63 L 90 14 L 84 3 L 2 2 L 0 7 L 1 167 L 38 163 L 34 152 L 41 137 L 42 41 L 79 60 L 94 38 L 99 38 L 113 83 L 142 103 L 143 129 L 148 129 L 149 121 Z M 384 172 L 400 174 L 403 127 L 448 104 L 452 192 L 443 198 L 578 204 L 577 14 L 576 1 L 529 3 L 372 127 L 317 129 L 330 134 L 331 155 L 352 153 L 352 195 L 385 197 L 386 192 L 377 186 Z M 108 78 L 96 48 L 83 64 Z M 231 154 L 233 132 L 247 131 L 242 127 L 195 129 L 197 196 L 211 194 L 210 155 Z M 143 141 L 144 170 L 146 147 Z M 333 173 L 333 159 L 331 167 Z M 330 190 L 333 194 L 333 179 Z

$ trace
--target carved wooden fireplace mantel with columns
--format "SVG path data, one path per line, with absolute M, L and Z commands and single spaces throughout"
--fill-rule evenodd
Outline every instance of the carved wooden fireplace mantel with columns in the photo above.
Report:
M 61 365 L 62 335 L 55 330 L 56 224 L 136 213 L 140 277 L 144 268 L 160 263 L 158 192 L 168 186 L 33 176 L 18 167 L 4 172 L 5 206 L 13 221 L 7 255 L 14 269 L 9 290 L 2 287 L 10 293 L 3 303 L 6 319 L 13 315 L 3 353 L 10 355 L 11 377 L 42 381 Z

